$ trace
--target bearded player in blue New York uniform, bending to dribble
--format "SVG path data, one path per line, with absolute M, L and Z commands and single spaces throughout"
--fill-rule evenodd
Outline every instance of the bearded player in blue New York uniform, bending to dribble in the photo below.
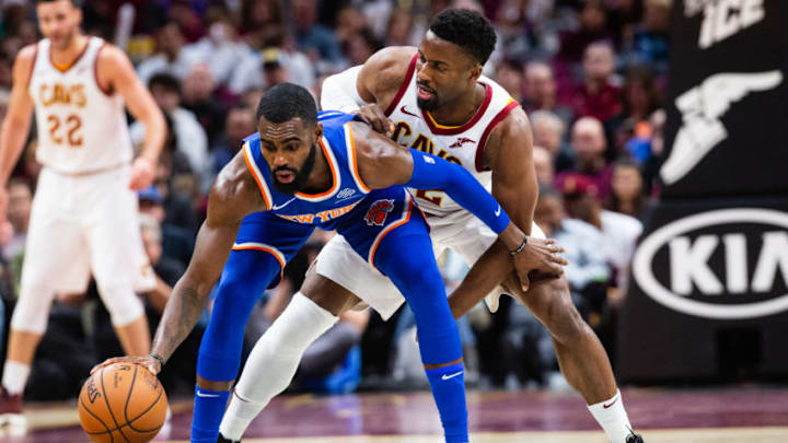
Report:
M 222 170 L 211 189 L 208 218 L 188 269 L 167 302 L 151 355 L 111 359 L 103 364 L 136 362 L 158 374 L 197 323 L 221 273 L 199 351 L 199 401 L 192 428 L 192 442 L 216 442 L 253 306 L 266 287 L 278 282 L 285 264 L 315 228 L 336 230 L 406 298 L 416 316 L 421 359 L 445 440 L 467 442 L 460 338 L 428 226 L 410 194 L 398 185 L 441 189 L 452 196 L 498 233 L 523 279 L 538 267 L 519 254 L 526 236 L 462 167 L 404 150 L 354 115 L 327 112 L 318 117 L 315 108 L 314 100 L 301 86 L 283 83 L 265 93 L 257 109 L 258 132 L 244 140 L 242 152 Z M 555 254 L 560 248 L 545 247 L 553 258 L 541 270 L 560 273 L 565 261 Z M 299 316 L 279 317 L 269 329 L 267 334 L 277 334 L 276 325 L 296 326 L 287 331 L 288 347 L 280 352 L 300 355 L 313 338 L 311 333 L 299 334 L 299 325 L 325 331 L 350 307 L 348 302 L 356 302 L 321 300 L 320 294 L 302 288 L 290 302 L 299 306 L 292 311 Z M 264 351 L 258 348 L 253 354 Z M 296 366 L 276 370 L 292 376 Z

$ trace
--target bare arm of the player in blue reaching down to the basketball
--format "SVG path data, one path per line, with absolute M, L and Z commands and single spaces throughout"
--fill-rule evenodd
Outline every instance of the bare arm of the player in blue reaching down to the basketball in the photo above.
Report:
M 192 261 L 164 307 L 151 355 L 109 359 L 93 371 L 126 361 L 143 364 L 158 374 L 162 362 L 152 355 L 165 362 L 192 331 L 224 268 L 241 220 L 251 212 L 264 210 L 262 198 L 245 167 L 241 155 L 236 155 L 219 174 L 208 199 L 208 218 L 197 234 Z

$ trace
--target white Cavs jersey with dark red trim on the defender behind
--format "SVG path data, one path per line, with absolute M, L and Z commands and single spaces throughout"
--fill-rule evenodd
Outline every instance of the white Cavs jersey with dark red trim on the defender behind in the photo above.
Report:
M 486 88 L 487 94 L 476 114 L 465 125 L 441 126 L 428 112 L 421 110 L 416 102 L 417 58 L 418 55 L 414 56 L 405 81 L 385 110 L 385 115 L 396 125 L 392 138 L 403 147 L 428 152 L 463 166 L 490 190 L 491 173 L 484 167 L 485 143 L 493 128 L 519 104 L 498 83 L 482 77 L 478 82 Z M 440 215 L 463 210 L 445 193 L 412 191 L 426 212 Z

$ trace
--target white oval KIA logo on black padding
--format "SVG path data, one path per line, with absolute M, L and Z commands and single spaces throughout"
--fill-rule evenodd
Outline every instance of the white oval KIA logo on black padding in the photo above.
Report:
M 737 225 L 758 225 L 761 235 L 731 231 Z M 748 242 L 762 242 L 757 257 L 748 256 L 753 252 Z M 670 278 L 664 281 L 653 269 L 660 254 L 669 261 Z M 709 266 L 715 254 L 725 263 L 717 272 Z M 633 276 L 646 294 L 674 311 L 705 318 L 754 318 L 788 310 L 788 292 L 763 296 L 769 295 L 780 275 L 788 285 L 788 213 L 770 209 L 723 209 L 676 220 L 644 240 L 633 259 Z M 729 302 L 719 303 L 720 299 Z

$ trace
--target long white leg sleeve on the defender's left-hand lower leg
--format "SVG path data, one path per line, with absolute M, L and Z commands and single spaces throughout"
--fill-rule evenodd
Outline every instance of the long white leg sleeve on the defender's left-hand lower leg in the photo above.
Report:
M 225 439 L 241 440 L 268 401 L 288 387 L 304 350 L 337 319 L 301 292 L 293 295 L 246 360 L 219 427 Z

